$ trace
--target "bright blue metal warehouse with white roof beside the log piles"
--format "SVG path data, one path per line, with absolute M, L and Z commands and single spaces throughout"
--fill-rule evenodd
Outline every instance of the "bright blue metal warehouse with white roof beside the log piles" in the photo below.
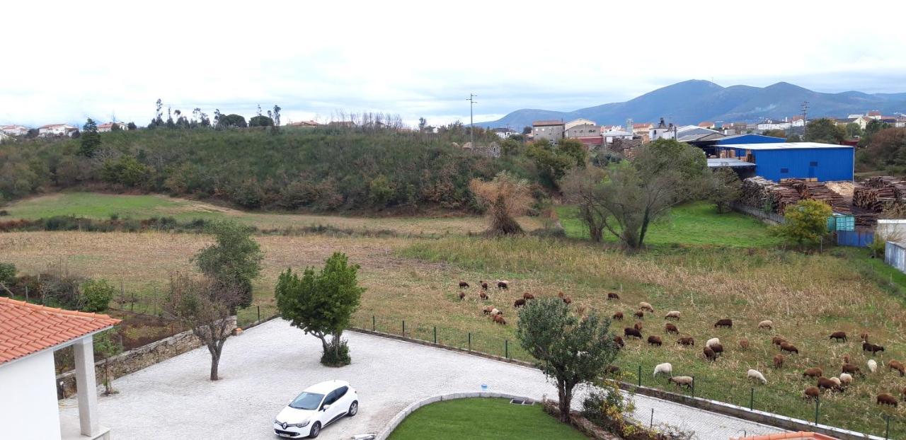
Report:
M 815 178 L 819 182 L 853 180 L 855 150 L 848 145 L 816 142 L 717 145 L 721 158 L 755 164 L 755 174 L 775 182 Z

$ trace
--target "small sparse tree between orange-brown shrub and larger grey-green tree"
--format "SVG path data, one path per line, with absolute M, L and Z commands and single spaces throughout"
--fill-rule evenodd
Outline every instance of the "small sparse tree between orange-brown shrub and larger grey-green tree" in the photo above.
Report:
M 602 241 L 608 215 L 600 203 L 604 174 L 599 167 L 573 168 L 560 183 L 565 200 L 579 210 L 579 218 L 595 243 Z

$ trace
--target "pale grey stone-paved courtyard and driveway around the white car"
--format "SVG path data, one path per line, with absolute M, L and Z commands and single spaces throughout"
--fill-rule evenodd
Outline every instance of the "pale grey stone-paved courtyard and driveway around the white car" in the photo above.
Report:
M 207 380 L 207 349 L 195 349 L 114 382 L 120 394 L 99 397 L 101 425 L 113 438 L 126 439 L 274 439 L 271 422 L 305 387 L 343 379 L 359 392 L 358 416 L 328 426 L 320 438 L 350 438 L 378 433 L 410 403 L 439 394 L 489 391 L 540 399 L 556 389 L 534 368 L 478 358 L 399 340 L 345 333 L 352 365 L 323 367 L 321 342 L 271 320 L 226 342 L 221 380 Z M 581 406 L 582 394 L 574 401 Z M 636 416 L 645 423 L 655 408 L 655 424 L 694 430 L 702 440 L 727 440 L 737 431 L 749 435 L 778 431 L 733 417 L 683 407 L 651 397 L 636 397 Z M 75 416 L 73 399 L 63 416 Z M 739 432 L 738 435 L 742 433 Z

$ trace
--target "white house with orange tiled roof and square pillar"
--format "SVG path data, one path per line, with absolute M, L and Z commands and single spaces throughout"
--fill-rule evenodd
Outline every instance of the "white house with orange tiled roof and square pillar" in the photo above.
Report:
M 119 323 L 107 315 L 64 311 L 0 298 L 0 430 L 4 438 L 105 439 L 98 419 L 93 335 Z M 61 420 L 53 351 L 75 354 L 78 426 Z

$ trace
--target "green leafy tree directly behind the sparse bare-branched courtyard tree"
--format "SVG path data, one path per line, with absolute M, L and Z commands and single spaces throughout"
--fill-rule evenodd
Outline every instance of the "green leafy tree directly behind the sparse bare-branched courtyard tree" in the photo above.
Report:
M 264 254 L 252 238 L 246 225 L 222 221 L 210 226 L 215 244 L 196 253 L 193 261 L 201 273 L 217 282 L 221 290 L 236 292 L 236 303 L 230 307 L 248 307 L 252 304 L 252 280 L 261 273 Z

